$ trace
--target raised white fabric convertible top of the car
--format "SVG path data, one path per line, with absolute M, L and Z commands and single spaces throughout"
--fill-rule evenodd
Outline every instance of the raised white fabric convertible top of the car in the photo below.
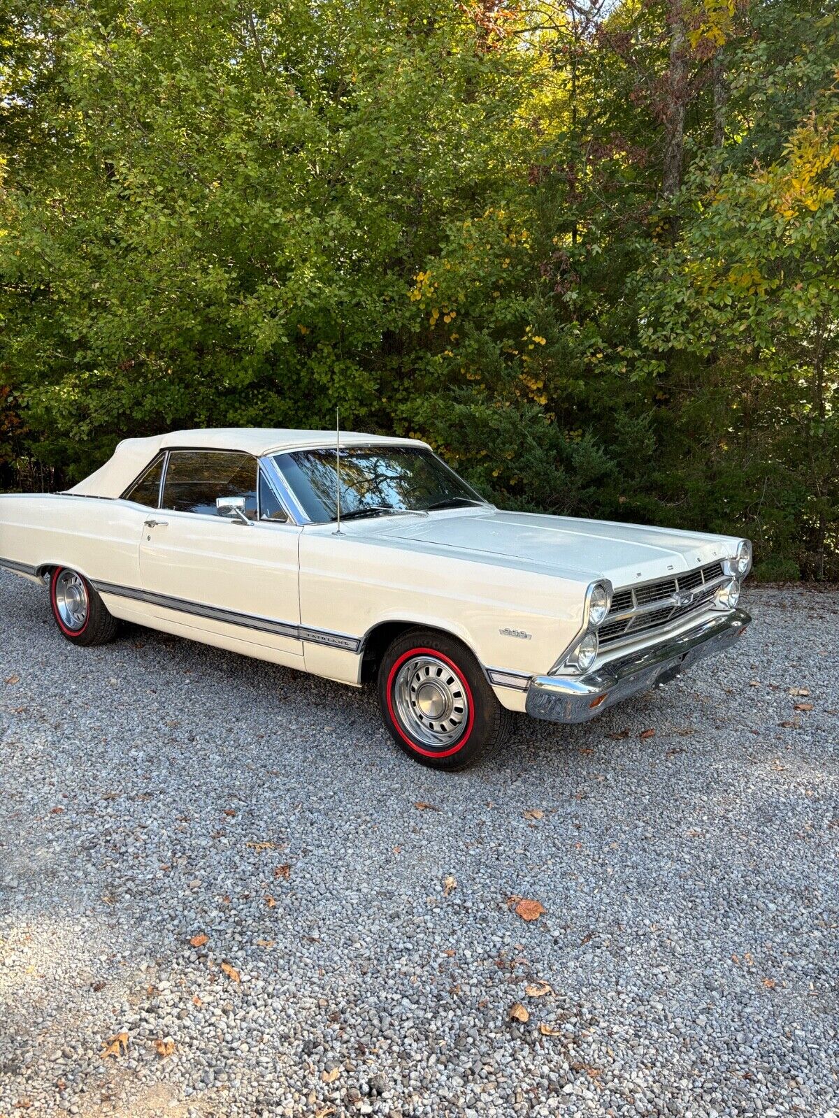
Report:
M 243 451 L 257 457 L 263 454 L 299 449 L 305 446 L 334 446 L 333 430 L 286 430 L 282 427 L 207 427 L 196 430 L 172 430 L 168 435 L 148 438 L 125 438 L 112 457 L 83 482 L 67 490 L 82 496 L 121 496 L 149 465 L 154 455 L 167 447 L 200 447 L 206 451 Z M 415 438 L 393 438 L 387 435 L 365 435 L 341 432 L 341 446 L 369 444 L 426 446 Z

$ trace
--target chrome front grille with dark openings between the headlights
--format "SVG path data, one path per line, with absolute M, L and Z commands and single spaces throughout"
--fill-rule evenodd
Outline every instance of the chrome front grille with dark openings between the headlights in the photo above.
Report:
M 722 562 L 711 562 L 672 578 L 615 590 L 606 619 L 598 629 L 601 647 L 661 628 L 706 608 L 724 578 Z M 688 593 L 690 601 L 680 604 L 677 596 Z

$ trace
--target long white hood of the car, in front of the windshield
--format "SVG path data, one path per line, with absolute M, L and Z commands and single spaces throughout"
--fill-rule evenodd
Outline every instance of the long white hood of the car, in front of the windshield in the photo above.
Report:
M 376 534 L 449 553 L 480 552 L 516 566 L 631 586 L 732 555 L 736 539 L 602 520 L 469 509 L 427 518 L 380 520 Z

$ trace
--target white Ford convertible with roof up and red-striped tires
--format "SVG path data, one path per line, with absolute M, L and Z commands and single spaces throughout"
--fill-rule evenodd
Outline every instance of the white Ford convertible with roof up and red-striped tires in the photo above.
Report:
M 340 494 L 340 499 L 339 499 Z M 582 722 L 730 647 L 748 540 L 500 512 L 424 443 L 181 430 L 66 493 L 0 496 L 0 566 L 58 628 L 117 619 L 352 686 L 408 756 L 459 769 L 508 711 Z

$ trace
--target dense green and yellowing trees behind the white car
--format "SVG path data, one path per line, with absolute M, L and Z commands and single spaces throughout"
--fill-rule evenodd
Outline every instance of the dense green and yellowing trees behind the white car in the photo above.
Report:
M 8 0 L 0 173 L 7 486 L 340 406 L 839 577 L 833 3 Z

